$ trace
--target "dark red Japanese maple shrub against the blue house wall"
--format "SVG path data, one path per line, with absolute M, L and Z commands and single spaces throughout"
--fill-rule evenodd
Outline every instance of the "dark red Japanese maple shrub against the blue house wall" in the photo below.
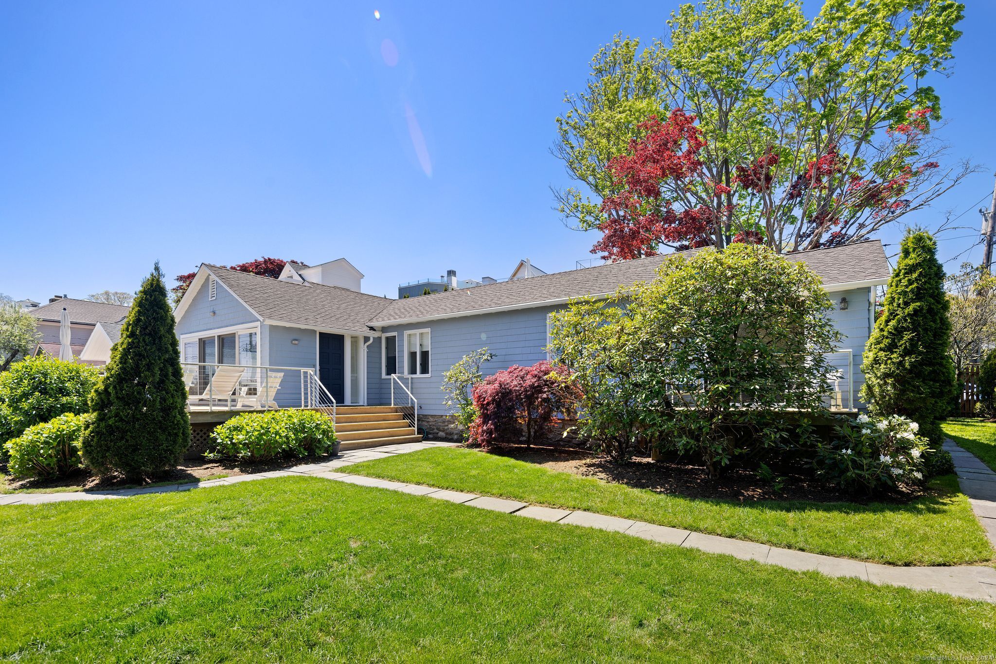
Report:
M 573 413 L 577 387 L 570 371 L 547 360 L 532 366 L 510 366 L 490 375 L 473 389 L 477 417 L 471 440 L 488 449 L 502 443 L 542 442 L 554 415 Z

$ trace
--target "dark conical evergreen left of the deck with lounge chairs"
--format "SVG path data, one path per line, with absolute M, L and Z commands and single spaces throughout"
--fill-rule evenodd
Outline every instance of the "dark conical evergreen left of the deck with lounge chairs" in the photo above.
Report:
M 87 464 L 102 475 L 152 476 L 179 462 L 190 445 L 179 342 L 159 264 L 135 296 L 94 390 L 94 420 L 83 436 Z

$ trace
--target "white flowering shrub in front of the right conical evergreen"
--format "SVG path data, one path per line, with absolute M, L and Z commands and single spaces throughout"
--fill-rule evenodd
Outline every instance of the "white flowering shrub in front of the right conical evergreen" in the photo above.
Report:
M 919 426 L 900 415 L 858 416 L 835 428 L 834 440 L 817 448 L 817 476 L 851 493 L 876 494 L 923 482 L 929 443 Z

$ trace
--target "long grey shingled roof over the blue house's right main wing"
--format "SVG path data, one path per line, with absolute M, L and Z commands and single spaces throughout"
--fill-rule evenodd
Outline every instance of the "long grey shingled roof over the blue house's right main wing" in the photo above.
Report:
M 691 256 L 697 251 L 700 250 L 692 249 L 529 279 L 485 284 L 421 298 L 393 300 L 379 312 L 371 325 L 430 321 L 491 310 L 558 304 L 582 296 L 608 295 L 620 287 L 653 279 L 657 267 L 671 256 Z M 825 287 L 884 284 L 891 272 L 885 251 L 878 240 L 786 254 L 785 257 L 790 261 L 805 263 L 823 279 Z

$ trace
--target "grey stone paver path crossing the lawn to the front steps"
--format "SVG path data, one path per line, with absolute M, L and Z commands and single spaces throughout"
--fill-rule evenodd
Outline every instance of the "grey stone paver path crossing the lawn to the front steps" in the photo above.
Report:
M 756 542 L 744 542 L 732 538 L 722 538 L 704 533 L 692 533 L 666 526 L 657 526 L 620 517 L 583 512 L 580 510 L 562 510 L 540 505 L 529 505 L 519 501 L 501 498 L 467 494 L 459 491 L 439 489 L 417 484 L 404 484 L 380 480 L 363 475 L 351 475 L 337 472 L 337 468 L 361 461 L 382 459 L 395 454 L 404 454 L 427 447 L 452 446 L 452 443 L 420 442 L 391 445 L 370 449 L 344 452 L 331 461 L 318 464 L 294 466 L 286 470 L 270 471 L 255 475 L 240 475 L 237 477 L 210 480 L 167 487 L 149 487 L 145 489 L 124 489 L 112 492 L 77 492 L 64 494 L 10 494 L 0 496 L 0 505 L 39 505 L 61 501 L 101 500 L 109 498 L 124 498 L 139 494 L 165 493 L 170 491 L 186 491 L 200 487 L 214 487 L 238 482 L 261 480 L 288 475 L 314 475 L 338 482 L 347 482 L 365 487 L 399 491 L 416 496 L 427 496 L 449 501 L 459 505 L 475 507 L 482 510 L 492 510 L 517 517 L 526 517 L 551 523 L 597 528 L 614 531 L 634 538 L 697 549 L 708 553 L 723 553 L 744 560 L 756 560 L 765 564 L 775 564 L 799 571 L 818 571 L 828 576 L 851 576 L 871 583 L 900 585 L 918 590 L 935 590 L 960 597 L 981 599 L 996 602 L 996 569 L 982 565 L 937 566 L 937 567 L 902 567 L 875 562 L 863 562 L 850 558 L 821 555 L 818 553 L 799 552 L 790 549 L 779 549 Z M 986 468 L 973 455 L 965 452 L 951 441 L 944 445 L 955 458 L 955 468 L 962 491 L 969 496 L 969 502 L 976 516 L 982 522 L 993 538 L 996 529 L 996 473 Z M 974 461 L 973 461 L 974 460 Z M 981 466 L 981 468 L 980 468 Z M 988 471 L 988 472 L 987 472 Z M 972 473 L 971 477 L 963 477 Z M 981 476 L 981 477 L 975 477 Z

